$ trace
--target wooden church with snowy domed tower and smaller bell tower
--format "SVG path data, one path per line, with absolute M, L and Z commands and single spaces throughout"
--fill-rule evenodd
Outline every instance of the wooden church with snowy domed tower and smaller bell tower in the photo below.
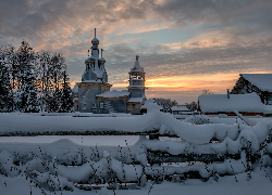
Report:
M 91 56 L 85 60 L 86 69 L 82 76 L 82 82 L 76 82 L 78 91 L 75 91 L 74 109 L 82 113 L 109 114 L 127 113 L 140 114 L 140 107 L 145 104 L 145 72 L 139 65 L 139 56 L 136 55 L 136 62 L 131 68 L 129 86 L 126 90 L 111 91 L 112 84 L 108 82 L 106 72 L 106 60 L 99 56 L 99 40 L 91 40 Z

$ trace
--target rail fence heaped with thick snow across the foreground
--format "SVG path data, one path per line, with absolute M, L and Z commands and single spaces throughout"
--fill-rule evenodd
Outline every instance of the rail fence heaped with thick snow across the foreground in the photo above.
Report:
M 148 180 L 212 178 L 217 181 L 225 174 L 233 174 L 238 181 L 238 173 L 247 172 L 250 179 L 254 169 L 259 167 L 267 171 L 267 167 L 272 166 L 269 156 L 272 144 L 268 139 L 272 127 L 270 120 L 259 120 L 255 126 L 243 123 L 240 119 L 202 116 L 178 121 L 157 110 L 133 118 L 10 116 L 0 116 L 2 135 L 12 135 L 15 131 L 144 134 L 134 145 L 123 147 L 90 147 L 69 140 L 50 144 L 0 143 L 0 174 L 26 177 L 47 191 L 73 191 L 75 185 L 83 184 L 91 188 L 94 184 L 106 183 L 108 187 L 118 188 L 127 182 L 144 186 Z M 12 123 L 12 119 L 16 123 Z M 175 135 L 181 141 L 148 140 L 146 134 L 152 138 Z M 170 162 L 186 164 L 173 167 Z

